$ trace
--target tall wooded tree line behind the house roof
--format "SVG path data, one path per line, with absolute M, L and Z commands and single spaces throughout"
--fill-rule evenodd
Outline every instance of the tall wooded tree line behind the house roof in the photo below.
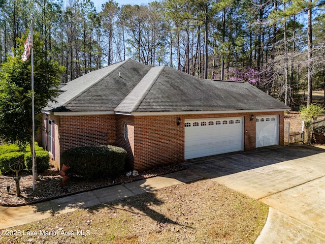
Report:
M 28 32 L 30 14 L 66 83 L 133 58 L 209 79 L 251 82 L 286 104 L 325 86 L 323 0 L 0 0 L 0 64 Z M 310 95 L 308 93 L 308 95 Z M 310 97 L 308 96 L 308 99 Z M 311 101 L 309 101 L 311 103 Z

